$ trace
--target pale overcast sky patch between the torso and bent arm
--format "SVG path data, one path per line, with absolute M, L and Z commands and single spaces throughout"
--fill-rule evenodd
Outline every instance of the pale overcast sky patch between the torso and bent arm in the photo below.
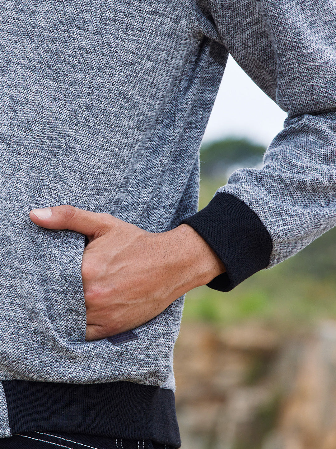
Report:
M 235 136 L 268 146 L 285 118 L 230 56 L 203 141 Z

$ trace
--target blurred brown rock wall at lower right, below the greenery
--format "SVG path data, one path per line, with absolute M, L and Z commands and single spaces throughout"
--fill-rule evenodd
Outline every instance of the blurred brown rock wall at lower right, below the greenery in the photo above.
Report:
M 336 449 L 335 322 L 184 323 L 174 366 L 182 449 Z

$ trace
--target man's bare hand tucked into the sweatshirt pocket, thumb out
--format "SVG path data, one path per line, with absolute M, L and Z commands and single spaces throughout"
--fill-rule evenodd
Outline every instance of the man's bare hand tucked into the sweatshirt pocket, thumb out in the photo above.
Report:
M 70 229 L 89 238 L 82 259 L 86 340 L 134 329 L 225 271 L 188 225 L 150 233 L 112 215 L 67 205 L 34 209 L 30 219 L 43 228 Z

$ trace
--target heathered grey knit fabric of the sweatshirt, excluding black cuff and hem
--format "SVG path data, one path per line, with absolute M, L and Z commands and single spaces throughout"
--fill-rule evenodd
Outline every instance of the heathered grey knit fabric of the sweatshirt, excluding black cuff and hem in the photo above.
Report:
M 1 2 L 0 379 L 174 389 L 183 298 L 137 341 L 85 342 L 84 238 L 28 213 L 69 203 L 153 232 L 194 214 L 228 51 L 289 118 L 264 167 L 220 191 L 261 218 L 271 265 L 336 224 L 335 16 L 324 0 Z

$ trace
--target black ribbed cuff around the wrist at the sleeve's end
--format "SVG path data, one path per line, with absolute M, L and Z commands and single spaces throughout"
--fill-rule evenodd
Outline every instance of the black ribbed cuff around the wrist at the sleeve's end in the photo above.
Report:
M 215 290 L 230 291 L 269 264 L 270 234 L 254 211 L 233 195 L 216 194 L 182 223 L 194 228 L 225 265 L 226 273 L 207 284 Z

